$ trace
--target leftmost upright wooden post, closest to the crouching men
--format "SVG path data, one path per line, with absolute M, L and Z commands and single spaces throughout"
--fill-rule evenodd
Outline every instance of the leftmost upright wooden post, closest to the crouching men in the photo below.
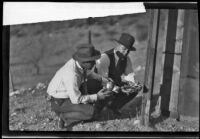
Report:
M 147 48 L 146 68 L 144 77 L 144 88 L 142 96 L 142 119 L 141 124 L 149 126 L 151 97 L 153 94 L 154 76 L 156 68 L 156 54 L 158 43 L 158 31 L 159 31 L 159 18 L 160 10 L 151 10 L 151 20 L 149 24 L 149 42 Z

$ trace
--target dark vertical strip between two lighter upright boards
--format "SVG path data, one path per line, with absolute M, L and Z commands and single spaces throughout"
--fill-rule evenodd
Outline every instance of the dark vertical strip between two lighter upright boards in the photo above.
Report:
M 164 67 L 163 67 L 163 81 L 160 88 L 161 95 L 161 113 L 169 116 L 169 102 L 172 86 L 172 73 L 174 63 L 174 52 L 176 42 L 178 10 L 170 9 L 168 14 L 167 38 L 165 44 Z

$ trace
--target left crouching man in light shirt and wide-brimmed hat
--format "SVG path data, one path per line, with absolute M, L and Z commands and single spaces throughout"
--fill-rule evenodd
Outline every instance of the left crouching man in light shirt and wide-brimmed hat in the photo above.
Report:
M 56 72 L 49 83 L 47 93 L 51 96 L 52 110 L 60 117 L 61 128 L 93 118 L 97 111 L 96 105 L 93 104 L 113 94 L 105 89 L 92 93 L 87 91 L 87 78 L 96 79 L 101 83 L 107 81 L 93 74 L 92 69 L 98 58 L 100 52 L 93 45 L 79 45 L 73 58 Z

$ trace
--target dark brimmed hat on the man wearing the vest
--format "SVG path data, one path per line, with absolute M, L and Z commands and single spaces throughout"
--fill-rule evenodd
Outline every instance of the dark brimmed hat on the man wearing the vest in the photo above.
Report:
M 128 50 L 136 51 L 136 48 L 133 46 L 133 44 L 135 43 L 135 38 L 132 35 L 128 33 L 122 33 L 119 40 L 114 40 L 125 46 Z

